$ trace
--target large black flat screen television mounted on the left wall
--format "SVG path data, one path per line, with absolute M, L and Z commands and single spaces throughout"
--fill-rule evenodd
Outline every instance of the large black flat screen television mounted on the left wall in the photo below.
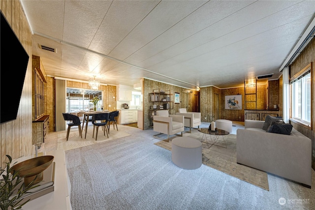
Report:
M 0 11 L 0 124 L 16 120 L 29 55 Z

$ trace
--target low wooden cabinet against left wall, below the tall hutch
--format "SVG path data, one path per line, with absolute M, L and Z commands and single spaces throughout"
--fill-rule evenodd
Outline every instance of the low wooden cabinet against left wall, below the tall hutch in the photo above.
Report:
M 49 115 L 44 115 L 32 122 L 32 144 L 45 142 L 49 131 Z

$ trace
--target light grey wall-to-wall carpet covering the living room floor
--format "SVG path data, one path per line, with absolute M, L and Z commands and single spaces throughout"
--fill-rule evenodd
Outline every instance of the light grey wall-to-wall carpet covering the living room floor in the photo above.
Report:
M 154 145 L 157 132 L 118 129 L 131 136 L 65 152 L 73 210 L 315 209 L 314 171 L 312 189 L 268 174 L 266 191 L 205 165 L 180 169 Z M 46 147 L 57 148 L 57 140 Z

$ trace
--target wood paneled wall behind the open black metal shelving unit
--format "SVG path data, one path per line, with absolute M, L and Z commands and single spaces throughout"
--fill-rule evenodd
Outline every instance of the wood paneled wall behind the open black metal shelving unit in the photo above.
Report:
M 143 80 L 143 130 L 152 129 L 150 126 L 150 119 L 149 119 L 149 108 L 150 108 L 150 101 L 149 93 L 152 93 L 154 89 L 160 89 L 163 91 L 170 90 L 171 101 L 174 102 L 174 93 L 180 93 L 180 104 L 173 104 L 173 109 L 170 109 L 170 114 L 175 114 L 178 112 L 179 108 L 187 108 L 187 111 L 192 111 L 192 103 L 193 103 L 193 96 L 195 94 L 199 94 L 198 91 L 182 88 L 150 79 Z M 191 93 L 192 91 L 192 93 Z

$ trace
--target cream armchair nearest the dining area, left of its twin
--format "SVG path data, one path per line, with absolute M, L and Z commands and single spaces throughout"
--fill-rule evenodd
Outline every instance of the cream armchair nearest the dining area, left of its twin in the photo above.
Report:
M 184 131 L 184 116 L 169 114 L 168 110 L 158 110 L 157 115 L 153 116 L 153 130 L 159 134 L 167 134 L 167 141 L 169 135 L 174 135 L 181 132 L 183 136 Z

